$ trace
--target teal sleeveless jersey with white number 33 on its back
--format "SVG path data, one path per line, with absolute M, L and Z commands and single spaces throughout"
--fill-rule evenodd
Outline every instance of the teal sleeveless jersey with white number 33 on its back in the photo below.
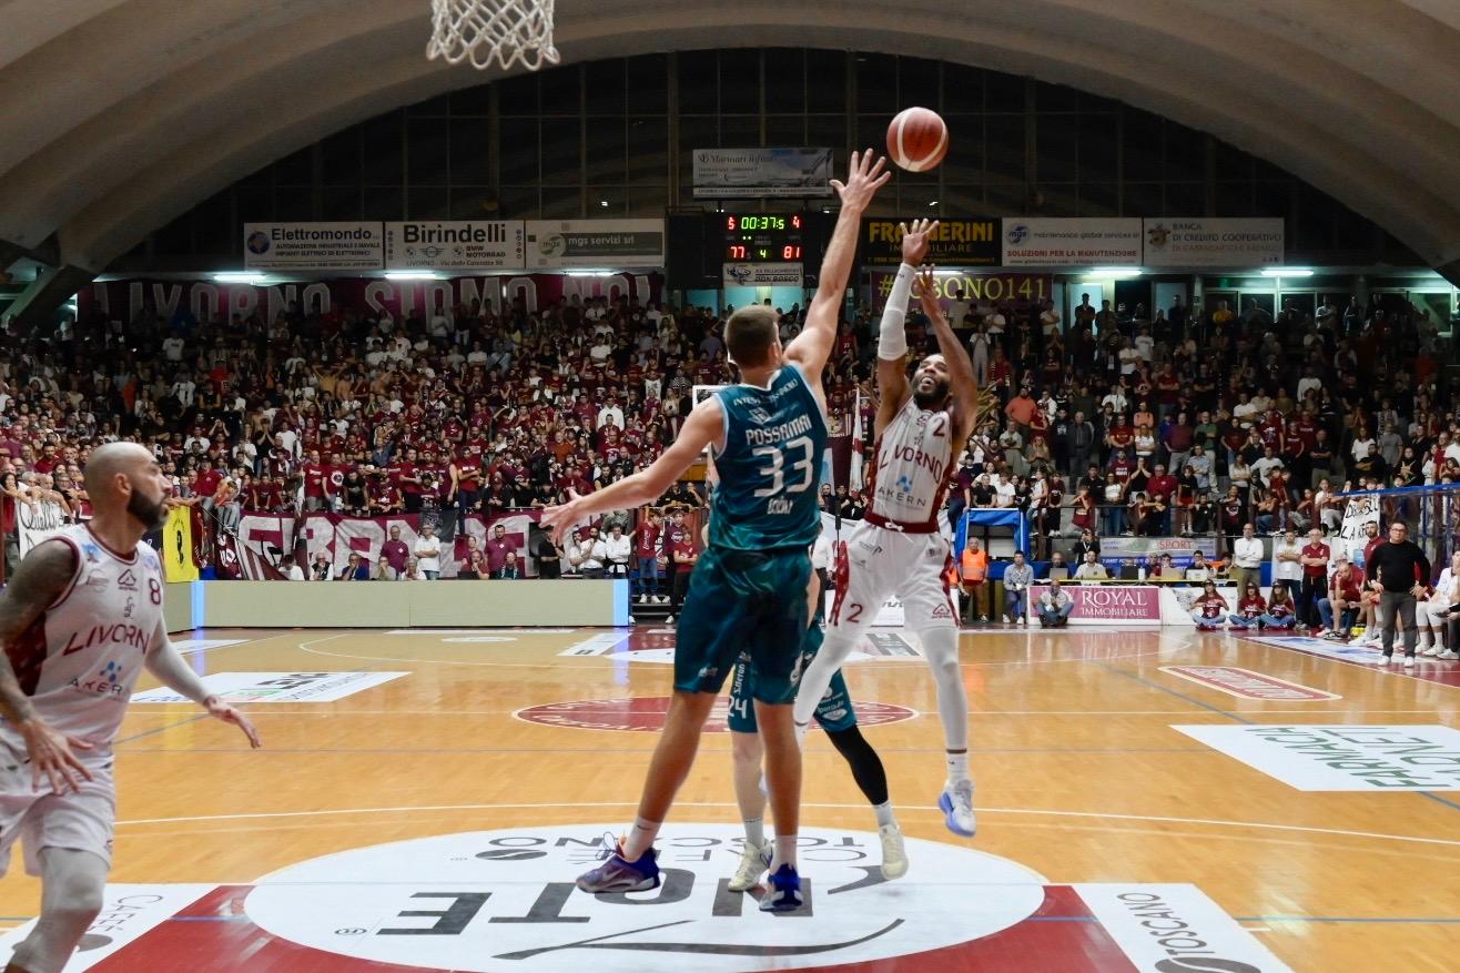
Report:
M 826 419 L 800 368 L 787 364 L 768 389 L 726 386 L 726 444 L 715 453 L 710 545 L 730 551 L 806 548 L 821 526 L 816 494 Z

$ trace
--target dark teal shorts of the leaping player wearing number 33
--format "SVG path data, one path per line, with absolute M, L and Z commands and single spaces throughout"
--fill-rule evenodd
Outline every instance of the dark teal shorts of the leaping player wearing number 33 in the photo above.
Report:
M 675 688 L 720 692 L 746 653 L 755 666 L 752 695 L 762 703 L 794 701 L 810 625 L 810 574 L 804 548 L 707 549 L 689 576 L 679 615 Z

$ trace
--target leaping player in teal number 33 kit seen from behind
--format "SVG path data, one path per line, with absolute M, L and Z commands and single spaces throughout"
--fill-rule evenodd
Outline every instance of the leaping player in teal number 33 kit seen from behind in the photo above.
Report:
M 654 748 L 638 818 L 600 868 L 578 888 L 639 891 L 658 885 L 654 837 L 675 792 L 695 763 L 699 733 L 742 649 L 755 668 L 755 707 L 765 744 L 765 773 L 775 815 L 775 858 L 768 912 L 802 904 L 796 874 L 802 757 L 791 725 L 802 638 L 810 624 L 806 584 L 816 539 L 816 470 L 826 441 L 822 371 L 837 340 L 842 292 L 857 250 L 861 215 L 891 174 L 886 159 L 853 153 L 847 183 L 832 181 L 841 213 L 822 262 L 804 330 L 781 348 L 775 313 L 752 305 L 726 324 L 726 348 L 740 384 L 705 399 L 647 470 L 543 511 L 556 536 L 588 517 L 651 503 L 707 447 L 715 450 L 710 548 L 691 576 L 675 647 L 675 695 Z

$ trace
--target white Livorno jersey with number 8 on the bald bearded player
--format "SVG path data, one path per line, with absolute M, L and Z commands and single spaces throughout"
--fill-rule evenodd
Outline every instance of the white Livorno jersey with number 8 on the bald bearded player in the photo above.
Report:
M 20 690 L 53 729 L 110 751 L 143 660 L 166 638 L 162 561 L 139 543 L 130 557 L 111 551 L 85 524 L 54 535 L 76 551 L 66 592 L 6 655 Z M 25 741 L 0 720 L 0 742 L 25 755 Z

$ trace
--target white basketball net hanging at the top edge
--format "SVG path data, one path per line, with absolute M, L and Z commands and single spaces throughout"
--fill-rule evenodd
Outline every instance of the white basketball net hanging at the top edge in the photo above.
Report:
M 553 0 L 431 0 L 432 34 L 426 56 L 448 64 L 470 60 L 477 70 L 496 61 L 502 70 L 521 63 L 530 72 L 556 64 L 552 44 Z

